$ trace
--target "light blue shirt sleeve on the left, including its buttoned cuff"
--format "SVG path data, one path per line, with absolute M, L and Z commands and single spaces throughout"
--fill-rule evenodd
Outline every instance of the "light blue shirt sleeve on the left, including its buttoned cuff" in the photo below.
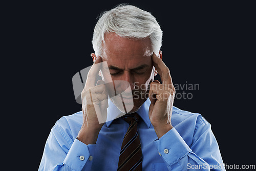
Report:
M 90 156 L 93 156 L 95 146 L 86 145 L 77 138 L 73 140 L 61 126 L 55 124 L 46 141 L 38 170 L 90 170 Z

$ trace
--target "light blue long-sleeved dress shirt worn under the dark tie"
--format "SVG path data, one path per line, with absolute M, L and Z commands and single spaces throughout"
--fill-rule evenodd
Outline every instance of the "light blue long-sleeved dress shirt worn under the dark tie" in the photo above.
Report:
M 148 117 L 147 99 L 138 114 L 143 170 L 225 170 L 211 125 L 197 113 L 173 107 L 174 128 L 157 138 Z M 108 114 L 120 111 L 109 102 Z M 129 124 L 121 118 L 106 122 L 96 144 L 76 137 L 82 112 L 63 116 L 47 139 L 39 170 L 117 170 L 120 148 Z

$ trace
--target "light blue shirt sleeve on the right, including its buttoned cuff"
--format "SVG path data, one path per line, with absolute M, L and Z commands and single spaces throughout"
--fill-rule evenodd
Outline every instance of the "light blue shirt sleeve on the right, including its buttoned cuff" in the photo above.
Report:
M 154 143 L 169 170 L 225 170 L 209 123 L 195 130 L 190 147 L 175 128 Z

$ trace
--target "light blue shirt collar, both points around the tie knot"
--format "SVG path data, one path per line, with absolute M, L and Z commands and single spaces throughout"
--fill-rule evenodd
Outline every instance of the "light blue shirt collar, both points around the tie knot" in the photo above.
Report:
M 149 98 L 147 98 L 147 100 L 142 104 L 140 109 L 136 112 L 145 122 L 145 124 L 147 125 L 147 128 L 149 128 L 151 125 L 150 118 L 148 117 L 148 109 L 150 108 L 150 104 L 151 104 L 151 101 Z M 119 109 L 117 109 L 115 104 L 110 99 L 109 99 L 109 108 L 107 109 L 107 111 L 108 111 L 108 116 L 106 119 L 106 126 L 108 127 L 111 125 L 114 119 L 125 115 L 125 113 L 122 113 L 121 111 L 119 111 Z

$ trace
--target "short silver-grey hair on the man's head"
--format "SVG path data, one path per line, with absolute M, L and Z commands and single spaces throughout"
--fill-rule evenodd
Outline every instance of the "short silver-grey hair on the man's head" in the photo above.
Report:
M 132 5 L 121 4 L 101 14 L 93 33 L 93 49 L 96 56 L 103 54 L 105 33 L 120 37 L 143 39 L 149 37 L 153 52 L 158 55 L 162 46 L 162 30 L 156 18 L 147 11 Z

